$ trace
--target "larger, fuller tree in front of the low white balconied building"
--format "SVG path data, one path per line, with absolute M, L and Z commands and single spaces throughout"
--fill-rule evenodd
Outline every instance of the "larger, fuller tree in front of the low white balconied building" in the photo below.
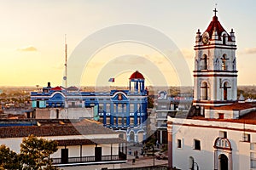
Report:
M 31 135 L 20 144 L 21 165 L 23 169 L 55 169 L 52 167 L 50 154 L 57 151 L 57 143 L 53 140 L 38 139 Z

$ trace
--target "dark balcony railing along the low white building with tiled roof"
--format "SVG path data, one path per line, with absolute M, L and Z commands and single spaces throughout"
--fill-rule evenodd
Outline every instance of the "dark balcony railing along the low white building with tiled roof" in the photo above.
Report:
M 82 162 L 96 162 L 96 161 L 125 161 L 125 156 L 102 156 L 101 160 L 96 160 L 96 156 L 80 156 L 80 157 L 68 157 L 63 158 L 52 158 L 53 164 L 72 164 Z

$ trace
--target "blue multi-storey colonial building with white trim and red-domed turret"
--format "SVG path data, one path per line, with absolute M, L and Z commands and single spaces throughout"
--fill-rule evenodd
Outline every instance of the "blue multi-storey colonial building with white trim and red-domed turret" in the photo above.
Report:
M 146 139 L 148 91 L 139 71 L 129 78 L 129 89 L 110 92 L 83 92 L 76 87 L 52 88 L 32 92 L 34 118 L 94 118 L 104 127 L 118 131 L 130 142 Z

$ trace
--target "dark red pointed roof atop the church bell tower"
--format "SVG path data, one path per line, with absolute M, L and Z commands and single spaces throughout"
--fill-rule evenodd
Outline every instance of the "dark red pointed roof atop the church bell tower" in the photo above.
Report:
M 212 39 L 212 33 L 213 33 L 214 29 L 216 29 L 216 31 L 218 33 L 218 40 L 220 40 L 222 32 L 227 32 L 224 30 L 224 27 L 221 26 L 220 22 L 218 21 L 217 16 L 212 17 L 212 21 L 206 30 L 210 35 L 210 39 Z M 232 41 L 230 35 L 228 33 L 226 33 L 226 34 L 227 34 L 226 36 L 228 36 L 228 40 Z

